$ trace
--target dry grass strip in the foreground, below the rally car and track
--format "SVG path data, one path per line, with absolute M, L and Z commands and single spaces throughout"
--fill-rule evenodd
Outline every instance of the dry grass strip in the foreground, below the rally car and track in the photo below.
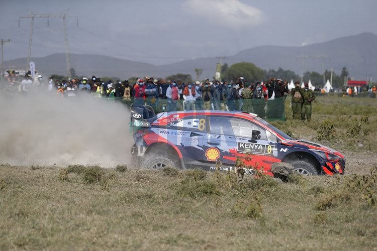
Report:
M 310 177 L 305 190 L 270 181 L 226 189 L 211 173 L 196 180 L 186 178 L 192 171 L 174 177 L 137 169 L 104 172 L 108 190 L 102 181 L 88 184 L 74 172 L 61 181 L 57 168 L 1 166 L 0 249 L 307 250 L 377 244 L 377 211 L 361 195 L 342 195 L 347 177 Z

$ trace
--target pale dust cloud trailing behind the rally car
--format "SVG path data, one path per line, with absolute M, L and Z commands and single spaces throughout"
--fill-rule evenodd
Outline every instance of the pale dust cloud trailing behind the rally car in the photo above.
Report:
M 28 94 L 0 94 L 0 164 L 129 164 L 133 140 L 126 105 L 88 94 Z

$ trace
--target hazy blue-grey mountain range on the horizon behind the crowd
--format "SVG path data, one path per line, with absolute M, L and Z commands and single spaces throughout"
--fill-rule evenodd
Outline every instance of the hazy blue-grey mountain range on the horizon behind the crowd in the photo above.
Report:
M 77 75 L 108 76 L 120 79 L 130 77 L 166 77 L 171 74 L 191 74 L 196 78 L 195 68 L 203 69 L 201 79 L 215 75 L 216 57 L 184 60 L 165 65 L 153 65 L 143 62 L 124 60 L 115 57 L 93 54 L 69 54 L 70 67 Z M 46 57 L 32 58 L 40 74 L 67 75 L 64 53 L 56 53 Z M 304 61 L 304 62 L 303 62 Z M 4 69 L 24 69 L 26 58 L 4 61 Z M 310 44 L 300 47 L 259 46 L 238 52 L 233 56 L 226 56 L 222 63 L 228 66 L 238 62 L 251 62 L 265 70 L 279 67 L 292 70 L 301 75 L 306 71 L 323 73 L 323 69 L 334 69 L 340 75 L 346 67 L 349 76 L 357 80 L 366 77 L 377 77 L 377 35 L 361 33 L 354 36 L 337 38 L 323 43 Z

